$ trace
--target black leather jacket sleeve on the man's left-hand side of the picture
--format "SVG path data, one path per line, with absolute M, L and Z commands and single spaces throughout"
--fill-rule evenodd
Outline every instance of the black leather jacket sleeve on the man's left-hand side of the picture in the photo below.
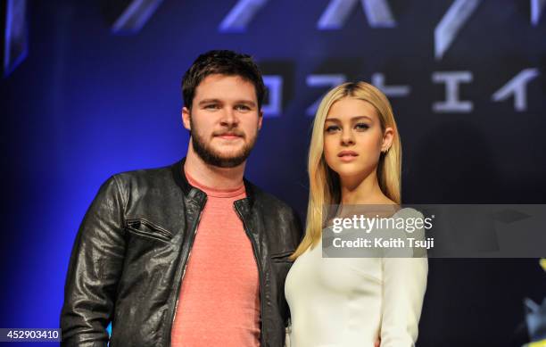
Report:
M 61 311 L 62 346 L 106 346 L 125 253 L 123 200 L 115 176 L 87 210 L 70 255 Z M 127 200 L 125 200 L 127 201 Z

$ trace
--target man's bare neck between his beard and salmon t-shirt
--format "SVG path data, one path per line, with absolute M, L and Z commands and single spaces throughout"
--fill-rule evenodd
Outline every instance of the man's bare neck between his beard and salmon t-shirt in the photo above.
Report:
M 218 189 L 233 189 L 241 186 L 244 176 L 244 161 L 235 168 L 219 168 L 207 164 L 201 159 L 190 143 L 187 149 L 184 169 L 186 172 L 203 186 Z

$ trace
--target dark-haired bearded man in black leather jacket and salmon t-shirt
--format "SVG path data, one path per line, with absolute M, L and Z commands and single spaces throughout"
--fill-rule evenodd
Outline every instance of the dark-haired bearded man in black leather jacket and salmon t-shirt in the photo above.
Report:
M 64 346 L 283 346 L 294 211 L 244 179 L 265 87 L 248 55 L 200 55 L 182 82 L 186 158 L 108 179 L 79 228 Z

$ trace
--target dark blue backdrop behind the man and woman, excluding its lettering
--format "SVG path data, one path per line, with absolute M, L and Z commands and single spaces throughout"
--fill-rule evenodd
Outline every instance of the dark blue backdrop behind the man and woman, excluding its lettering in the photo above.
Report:
M 210 49 L 252 54 L 266 75 L 282 76 L 282 112 L 266 115 L 246 176 L 302 217 L 305 110 L 328 89 L 309 87 L 311 74 L 369 81 L 381 72 L 387 85 L 411 88 L 391 97 L 403 202 L 546 203 L 546 12 L 533 25 L 529 1 L 482 1 L 442 59 L 434 28 L 450 0 L 391 0 L 389 29 L 372 28 L 359 3 L 336 30 L 317 29 L 328 0 L 276 0 L 238 33 L 219 30 L 236 0 L 164 0 L 143 29 L 116 35 L 112 18 L 127 3 L 28 2 L 28 56 L 0 82 L 0 327 L 58 327 L 87 206 L 113 173 L 185 155 L 180 80 Z M 527 85 L 524 112 L 513 98 L 492 101 L 527 68 L 540 76 Z M 433 73 L 457 70 L 473 74 L 459 86 L 473 111 L 433 112 L 446 97 Z M 522 302 L 545 294 L 536 259 L 430 260 L 418 346 L 520 346 L 528 342 Z

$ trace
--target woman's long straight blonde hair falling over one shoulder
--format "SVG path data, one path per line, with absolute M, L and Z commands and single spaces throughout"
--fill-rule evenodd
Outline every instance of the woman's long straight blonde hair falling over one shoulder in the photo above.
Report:
M 326 218 L 323 215 L 325 207 L 338 204 L 341 199 L 339 176 L 328 167 L 324 158 L 324 123 L 330 107 L 344 97 L 371 103 L 376 109 L 382 130 L 393 128 L 393 143 L 387 153 L 381 154 L 377 163 L 377 180 L 383 194 L 393 202 L 401 203 L 401 142 L 391 103 L 385 94 L 366 82 L 348 82 L 335 87 L 320 102 L 313 123 L 308 160 L 310 190 L 307 226 L 302 243 L 291 256 L 293 260 L 318 243 Z

